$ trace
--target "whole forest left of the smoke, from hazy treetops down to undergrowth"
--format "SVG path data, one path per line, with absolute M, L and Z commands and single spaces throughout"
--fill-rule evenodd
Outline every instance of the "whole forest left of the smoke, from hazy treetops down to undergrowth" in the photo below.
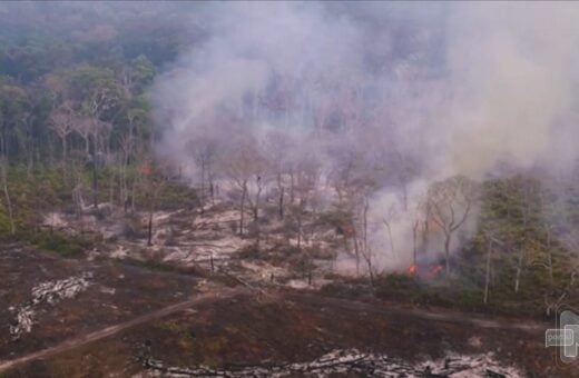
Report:
M 81 211 L 82 195 L 94 203 L 130 199 L 133 207 L 149 195 L 143 188 L 155 139 L 150 87 L 179 51 L 204 38 L 192 26 L 196 8 L 0 3 L 2 237 L 35 239 L 29 231 L 40 211 Z

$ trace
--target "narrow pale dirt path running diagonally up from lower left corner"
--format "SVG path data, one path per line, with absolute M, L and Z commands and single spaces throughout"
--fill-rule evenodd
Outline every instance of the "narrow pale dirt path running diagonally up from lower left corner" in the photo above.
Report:
M 244 291 L 243 289 L 237 288 L 237 289 L 223 289 L 219 291 L 202 294 L 195 298 L 190 298 L 186 301 L 164 307 L 156 311 L 134 318 L 131 320 L 128 320 L 128 321 L 125 321 L 125 322 L 121 322 L 121 324 L 118 324 L 115 326 L 109 326 L 109 327 L 99 329 L 97 331 L 90 332 L 90 334 L 81 335 L 81 336 L 78 336 L 72 339 L 65 340 L 51 348 L 42 349 L 42 350 L 36 351 L 33 354 L 29 354 L 29 355 L 18 357 L 18 358 L 14 358 L 11 360 L 0 361 L 0 372 L 14 368 L 16 366 L 19 366 L 19 365 L 30 362 L 36 359 L 47 358 L 47 357 L 73 349 L 73 348 L 85 346 L 87 344 L 90 344 L 90 342 L 104 339 L 106 337 L 109 337 L 111 335 L 118 334 L 127 328 L 135 327 L 137 325 L 141 325 L 144 322 L 148 322 L 151 320 L 156 320 L 156 319 L 163 318 L 170 314 L 183 311 L 187 308 L 190 308 L 192 306 L 200 305 L 200 304 L 205 304 L 205 302 L 209 302 L 209 301 L 214 301 L 214 300 L 220 300 L 224 298 L 229 298 L 229 297 L 233 297 L 243 291 Z

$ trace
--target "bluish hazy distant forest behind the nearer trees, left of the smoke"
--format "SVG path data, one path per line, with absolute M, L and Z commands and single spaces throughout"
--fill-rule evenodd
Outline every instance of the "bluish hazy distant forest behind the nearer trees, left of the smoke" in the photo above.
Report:
M 146 56 L 173 61 L 190 23 L 187 3 L 0 3 L 0 71 L 36 79 L 80 63 L 118 66 Z M 194 37 L 194 36 L 190 36 Z M 189 38 L 190 38 L 189 37 Z

